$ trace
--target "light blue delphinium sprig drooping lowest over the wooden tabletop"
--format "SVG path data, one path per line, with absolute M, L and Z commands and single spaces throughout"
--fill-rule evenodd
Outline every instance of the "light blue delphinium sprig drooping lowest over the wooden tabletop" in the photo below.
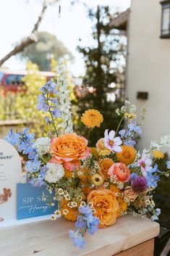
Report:
M 75 246 L 83 248 L 85 246 L 85 239 L 82 236 L 88 230 L 88 234 L 93 235 L 98 230 L 100 220 L 93 216 L 93 210 L 86 205 L 79 207 L 80 215 L 77 216 L 75 223 L 76 231 L 69 231 L 69 236 L 75 242 Z

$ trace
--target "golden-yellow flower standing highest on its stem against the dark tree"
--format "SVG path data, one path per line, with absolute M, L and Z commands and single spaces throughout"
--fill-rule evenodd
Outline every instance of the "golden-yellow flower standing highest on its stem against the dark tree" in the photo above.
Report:
M 88 128 L 100 127 L 103 122 L 103 115 L 98 110 L 86 110 L 82 114 L 81 121 Z

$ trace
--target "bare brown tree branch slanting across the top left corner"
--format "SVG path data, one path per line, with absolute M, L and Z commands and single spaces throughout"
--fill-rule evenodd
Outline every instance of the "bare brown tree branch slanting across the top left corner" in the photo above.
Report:
M 7 59 L 14 56 L 15 54 L 18 54 L 19 52 L 23 51 L 26 46 L 29 46 L 30 44 L 33 44 L 37 41 L 35 33 L 37 32 L 39 25 L 41 24 L 41 21 L 43 20 L 46 9 L 47 9 L 47 1 L 44 0 L 43 1 L 43 9 L 41 10 L 41 15 L 38 17 L 38 20 L 35 23 L 32 32 L 30 33 L 30 36 L 28 36 L 26 39 L 24 39 L 18 46 L 15 46 L 12 51 L 10 51 L 5 57 L 3 57 L 0 60 L 0 67 L 2 64 L 4 64 L 4 62 L 7 61 Z

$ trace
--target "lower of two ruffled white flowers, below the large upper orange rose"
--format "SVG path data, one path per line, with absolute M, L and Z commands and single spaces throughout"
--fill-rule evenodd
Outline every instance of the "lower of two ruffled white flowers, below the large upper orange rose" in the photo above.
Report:
M 64 176 L 64 168 L 62 165 L 48 162 L 46 166 L 48 170 L 46 172 L 45 180 L 49 183 L 56 183 Z

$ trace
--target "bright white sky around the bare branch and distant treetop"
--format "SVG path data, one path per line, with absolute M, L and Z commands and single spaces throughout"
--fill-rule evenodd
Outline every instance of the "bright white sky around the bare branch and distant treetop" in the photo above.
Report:
M 54 34 L 72 52 L 75 62 L 69 67 L 75 75 L 85 73 L 85 65 L 82 55 L 77 52 L 77 45 L 92 45 L 91 22 L 88 19 L 85 7 L 75 4 L 70 7 L 70 0 L 60 0 L 61 15 L 59 17 L 59 5 L 48 7 L 45 17 L 39 27 L 40 31 L 48 31 Z M 116 11 L 124 11 L 130 5 L 130 0 L 86 0 L 88 7 L 97 5 L 109 5 Z M 41 12 L 41 0 L 4 0 L 0 3 L 0 59 L 4 57 L 13 46 L 25 36 L 30 34 Z M 25 69 L 25 63 L 16 57 L 11 57 L 4 64 L 12 70 Z

